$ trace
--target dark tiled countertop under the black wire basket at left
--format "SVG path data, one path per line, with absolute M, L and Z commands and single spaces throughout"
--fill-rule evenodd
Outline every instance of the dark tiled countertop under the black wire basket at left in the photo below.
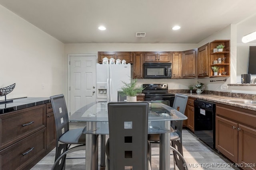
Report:
M 50 98 L 19 98 L 14 99 L 12 103 L 0 104 L 0 114 L 38 106 L 50 102 Z

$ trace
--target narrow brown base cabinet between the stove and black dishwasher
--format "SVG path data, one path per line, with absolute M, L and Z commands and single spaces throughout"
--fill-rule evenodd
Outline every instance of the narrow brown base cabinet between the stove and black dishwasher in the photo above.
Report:
M 188 98 L 185 115 L 188 117 L 186 126 L 194 132 L 194 98 Z

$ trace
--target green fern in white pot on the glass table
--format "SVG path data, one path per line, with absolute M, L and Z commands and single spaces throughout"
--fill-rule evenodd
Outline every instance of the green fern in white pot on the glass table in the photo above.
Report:
M 130 83 L 126 83 L 123 81 L 122 83 L 124 84 L 124 86 L 121 87 L 122 91 L 120 92 L 120 94 L 122 96 L 126 96 L 127 102 L 136 102 L 137 101 L 136 95 L 138 93 L 142 93 L 142 90 L 144 88 L 137 87 L 137 79 L 131 79 Z

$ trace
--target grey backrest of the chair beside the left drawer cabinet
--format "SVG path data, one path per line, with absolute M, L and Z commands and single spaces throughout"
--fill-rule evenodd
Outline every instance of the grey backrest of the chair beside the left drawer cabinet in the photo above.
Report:
M 69 130 L 68 110 L 63 94 L 51 96 L 52 109 L 56 126 L 56 142 L 58 143 L 62 134 Z

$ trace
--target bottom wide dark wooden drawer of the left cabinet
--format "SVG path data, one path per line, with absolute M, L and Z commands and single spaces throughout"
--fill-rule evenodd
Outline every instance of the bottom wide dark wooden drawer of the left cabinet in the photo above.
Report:
M 16 170 L 25 168 L 25 166 L 45 152 L 45 137 L 45 129 L 42 129 L 0 151 L 0 169 Z

